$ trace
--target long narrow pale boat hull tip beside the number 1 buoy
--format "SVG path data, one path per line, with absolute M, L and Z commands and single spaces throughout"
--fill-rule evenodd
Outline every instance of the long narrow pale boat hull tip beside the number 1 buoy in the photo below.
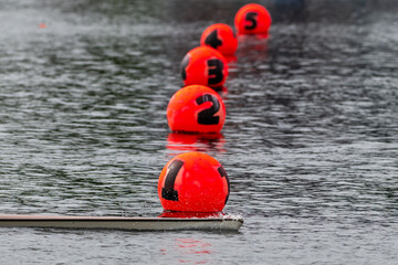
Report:
M 48 216 L 0 215 L 0 227 L 54 227 L 130 231 L 220 230 L 238 231 L 242 218 L 112 218 L 112 216 Z

